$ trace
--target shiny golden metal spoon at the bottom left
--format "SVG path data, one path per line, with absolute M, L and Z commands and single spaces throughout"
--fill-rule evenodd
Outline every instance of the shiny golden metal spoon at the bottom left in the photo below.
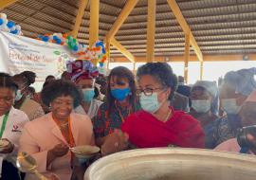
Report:
M 34 173 L 40 180 L 48 180 L 36 170 L 36 160 L 28 153 L 19 153 L 16 159 L 16 166 L 20 171 Z

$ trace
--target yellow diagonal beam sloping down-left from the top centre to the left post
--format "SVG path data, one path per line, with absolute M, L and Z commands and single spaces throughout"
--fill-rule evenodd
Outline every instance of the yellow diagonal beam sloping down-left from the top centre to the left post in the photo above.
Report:
M 125 4 L 124 8 L 120 11 L 119 17 L 117 18 L 116 22 L 114 23 L 113 27 L 109 30 L 109 32 L 106 35 L 106 39 L 111 40 L 114 38 L 116 33 L 119 30 L 119 27 L 123 24 L 123 22 L 126 20 L 130 12 L 135 8 L 137 5 L 138 0 L 128 0 Z M 114 40 L 115 41 L 115 40 Z

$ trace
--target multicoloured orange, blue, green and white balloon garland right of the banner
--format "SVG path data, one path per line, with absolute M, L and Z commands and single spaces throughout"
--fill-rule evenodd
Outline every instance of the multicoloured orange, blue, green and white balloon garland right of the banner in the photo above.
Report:
M 44 42 L 66 45 L 73 54 L 82 56 L 83 60 L 90 61 L 97 59 L 101 67 L 103 67 L 107 58 L 105 46 L 101 41 L 97 41 L 94 45 L 89 47 L 89 45 L 80 44 L 76 38 L 65 33 L 39 35 L 38 39 Z

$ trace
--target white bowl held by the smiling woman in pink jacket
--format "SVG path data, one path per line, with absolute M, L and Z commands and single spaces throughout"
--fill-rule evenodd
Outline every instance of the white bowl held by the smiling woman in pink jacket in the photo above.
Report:
M 78 158 L 90 158 L 94 156 L 95 154 L 100 152 L 100 148 L 97 146 L 90 146 L 90 145 L 84 145 L 84 146 L 77 146 L 74 148 L 70 148 L 70 151 L 72 153 L 75 153 L 75 155 Z

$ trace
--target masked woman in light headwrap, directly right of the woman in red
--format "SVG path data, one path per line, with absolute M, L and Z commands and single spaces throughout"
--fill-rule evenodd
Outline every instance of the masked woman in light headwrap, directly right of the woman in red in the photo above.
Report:
M 206 135 L 205 145 L 208 149 L 214 148 L 213 125 L 218 118 L 214 114 L 214 108 L 216 108 L 214 99 L 217 97 L 217 91 L 214 81 L 196 81 L 192 86 L 190 96 L 192 108 L 189 114 L 201 123 Z

